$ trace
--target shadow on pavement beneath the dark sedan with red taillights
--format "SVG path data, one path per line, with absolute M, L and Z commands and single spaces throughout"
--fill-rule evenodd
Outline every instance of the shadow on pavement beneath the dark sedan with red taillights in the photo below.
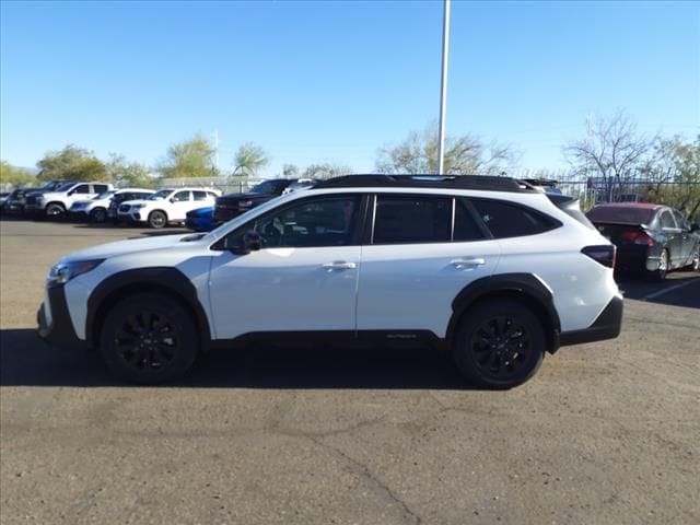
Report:
M 616 277 L 616 280 L 625 299 L 700 308 L 700 275 L 697 272 L 674 272 L 662 282 L 631 276 Z

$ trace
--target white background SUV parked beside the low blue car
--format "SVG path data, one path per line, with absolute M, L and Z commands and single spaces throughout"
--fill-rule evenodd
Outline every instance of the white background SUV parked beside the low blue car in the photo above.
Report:
M 121 202 L 117 208 L 117 219 L 163 228 L 174 222 L 185 222 L 188 211 L 213 207 L 220 196 L 221 191 L 212 188 L 159 189 L 148 199 Z

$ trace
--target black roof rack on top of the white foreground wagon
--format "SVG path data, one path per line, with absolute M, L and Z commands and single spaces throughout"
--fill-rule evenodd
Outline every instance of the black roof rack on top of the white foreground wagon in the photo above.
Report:
M 319 182 L 314 188 L 446 188 L 492 191 L 526 191 L 534 188 L 512 177 L 492 175 L 341 175 Z

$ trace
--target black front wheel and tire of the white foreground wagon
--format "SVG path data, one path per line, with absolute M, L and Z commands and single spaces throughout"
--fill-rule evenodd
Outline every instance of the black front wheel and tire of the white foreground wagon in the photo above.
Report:
M 197 327 L 176 299 L 140 293 L 107 313 L 100 351 L 107 366 L 128 382 L 161 384 L 191 369 L 199 353 Z

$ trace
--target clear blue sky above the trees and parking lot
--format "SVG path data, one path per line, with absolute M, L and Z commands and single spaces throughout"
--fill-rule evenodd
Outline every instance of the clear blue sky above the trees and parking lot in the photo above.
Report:
M 219 131 L 272 162 L 374 168 L 438 119 L 441 1 L 2 1 L 1 156 L 68 143 L 156 164 Z M 517 167 L 564 166 L 587 115 L 700 132 L 697 2 L 453 1 L 447 133 L 511 144 Z

